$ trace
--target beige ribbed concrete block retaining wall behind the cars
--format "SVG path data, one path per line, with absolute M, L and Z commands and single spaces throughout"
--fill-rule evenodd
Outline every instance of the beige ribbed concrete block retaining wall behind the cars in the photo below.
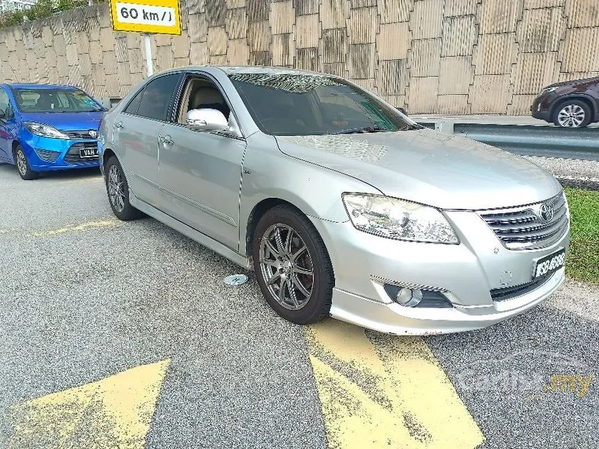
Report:
M 410 113 L 528 114 L 540 88 L 599 76 L 597 0 L 180 0 L 182 36 L 153 36 L 155 71 L 277 65 L 339 74 Z M 0 29 L 0 81 L 123 97 L 143 40 L 107 5 Z

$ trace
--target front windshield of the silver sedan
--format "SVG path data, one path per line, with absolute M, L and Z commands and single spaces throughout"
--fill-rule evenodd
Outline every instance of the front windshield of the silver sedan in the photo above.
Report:
M 269 73 L 235 73 L 229 79 L 256 125 L 267 134 L 352 134 L 418 127 L 343 79 Z

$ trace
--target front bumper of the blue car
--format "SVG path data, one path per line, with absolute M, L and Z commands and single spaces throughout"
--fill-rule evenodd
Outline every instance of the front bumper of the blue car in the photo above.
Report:
M 27 133 L 20 139 L 33 171 L 56 171 L 70 168 L 98 167 L 98 157 L 80 157 L 81 148 L 98 148 L 95 139 L 51 139 Z

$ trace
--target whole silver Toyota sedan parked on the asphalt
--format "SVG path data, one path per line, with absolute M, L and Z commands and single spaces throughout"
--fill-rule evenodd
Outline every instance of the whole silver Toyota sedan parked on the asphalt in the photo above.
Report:
M 148 214 L 253 269 L 297 324 L 480 329 L 563 283 L 570 217 L 550 173 L 329 74 L 155 74 L 104 116 L 100 161 L 119 219 Z

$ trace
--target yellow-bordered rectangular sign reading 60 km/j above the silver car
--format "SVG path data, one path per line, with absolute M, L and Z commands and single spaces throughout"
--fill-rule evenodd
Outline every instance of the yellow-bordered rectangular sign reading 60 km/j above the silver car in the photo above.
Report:
M 110 0 L 114 31 L 181 34 L 178 0 Z

